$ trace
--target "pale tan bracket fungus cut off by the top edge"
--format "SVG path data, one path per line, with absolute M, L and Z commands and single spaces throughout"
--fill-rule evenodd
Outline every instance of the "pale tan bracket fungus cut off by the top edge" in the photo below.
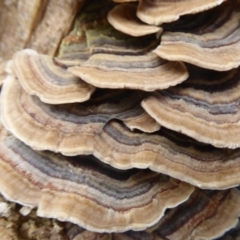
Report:
M 140 0 L 137 16 L 148 24 L 176 21 L 181 15 L 205 11 L 225 0 Z

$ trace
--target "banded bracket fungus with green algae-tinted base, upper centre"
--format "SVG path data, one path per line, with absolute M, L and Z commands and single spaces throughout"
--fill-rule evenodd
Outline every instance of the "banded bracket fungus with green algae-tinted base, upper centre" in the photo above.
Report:
M 183 63 L 163 60 L 152 52 L 159 45 L 155 35 L 134 38 L 102 18 L 85 34 L 91 56 L 68 71 L 95 87 L 153 91 L 188 77 Z

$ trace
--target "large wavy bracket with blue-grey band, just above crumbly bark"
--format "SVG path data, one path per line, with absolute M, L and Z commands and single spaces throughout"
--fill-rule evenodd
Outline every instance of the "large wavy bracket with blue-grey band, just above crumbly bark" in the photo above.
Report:
M 38 216 L 88 230 L 143 230 L 194 187 L 150 170 L 122 171 L 92 156 L 36 152 L 1 128 L 0 188 L 12 201 L 38 207 Z

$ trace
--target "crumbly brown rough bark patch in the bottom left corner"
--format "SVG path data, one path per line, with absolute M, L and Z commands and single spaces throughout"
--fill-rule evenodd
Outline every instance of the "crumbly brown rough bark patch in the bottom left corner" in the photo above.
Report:
M 8 202 L 0 195 L 1 240 L 69 240 L 72 223 L 40 218 L 35 209 Z

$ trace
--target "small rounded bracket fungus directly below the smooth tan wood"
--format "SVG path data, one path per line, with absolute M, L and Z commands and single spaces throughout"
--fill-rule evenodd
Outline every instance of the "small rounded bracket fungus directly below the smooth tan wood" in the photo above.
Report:
M 84 102 L 95 88 L 69 73 L 54 58 L 25 49 L 13 57 L 13 69 L 19 82 L 31 95 L 50 104 Z

